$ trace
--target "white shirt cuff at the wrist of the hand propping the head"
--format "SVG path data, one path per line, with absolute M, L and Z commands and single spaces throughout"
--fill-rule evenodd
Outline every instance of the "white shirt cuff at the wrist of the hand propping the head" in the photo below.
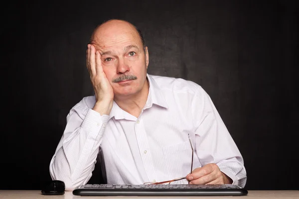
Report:
M 108 120 L 109 115 L 101 116 L 99 112 L 89 108 L 81 124 L 81 127 L 91 132 L 99 132 L 102 127 L 103 129 L 106 128 Z

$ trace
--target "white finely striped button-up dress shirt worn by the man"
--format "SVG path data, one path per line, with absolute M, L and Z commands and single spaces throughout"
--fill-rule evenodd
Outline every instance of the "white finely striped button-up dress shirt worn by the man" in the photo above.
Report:
M 53 180 L 66 190 L 86 184 L 97 156 L 108 184 L 143 184 L 185 177 L 215 163 L 244 187 L 243 158 L 208 94 L 191 81 L 147 75 L 149 96 L 138 118 L 113 102 L 110 115 L 92 110 L 95 96 L 83 98 L 67 124 L 50 162 Z M 186 180 L 176 183 L 186 184 Z

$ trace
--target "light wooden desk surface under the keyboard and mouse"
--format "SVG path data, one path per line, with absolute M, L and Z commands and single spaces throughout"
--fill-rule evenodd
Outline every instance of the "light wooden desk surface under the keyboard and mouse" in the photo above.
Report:
M 248 191 L 247 196 L 241 197 L 81 197 L 72 192 L 65 192 L 62 196 L 44 196 L 39 190 L 0 190 L 0 199 L 299 199 L 299 191 Z

